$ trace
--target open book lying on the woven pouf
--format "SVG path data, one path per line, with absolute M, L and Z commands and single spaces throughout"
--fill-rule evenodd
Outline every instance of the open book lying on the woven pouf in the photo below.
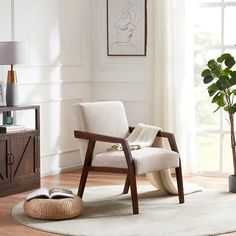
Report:
M 61 188 L 40 188 L 26 197 L 26 201 L 30 201 L 34 198 L 50 198 L 50 199 L 61 199 L 61 198 L 74 198 L 72 191 Z

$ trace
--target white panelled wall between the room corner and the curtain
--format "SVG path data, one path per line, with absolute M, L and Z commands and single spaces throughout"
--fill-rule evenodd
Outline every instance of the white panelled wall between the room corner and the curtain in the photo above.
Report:
M 149 57 L 108 57 L 106 0 L 91 2 L 93 100 L 122 100 L 131 125 L 150 122 Z

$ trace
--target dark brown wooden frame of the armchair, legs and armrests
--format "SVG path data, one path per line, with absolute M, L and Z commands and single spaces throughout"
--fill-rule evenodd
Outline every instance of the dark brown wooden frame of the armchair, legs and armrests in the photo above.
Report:
M 129 127 L 130 132 L 132 132 L 133 129 L 134 127 Z M 124 194 L 128 193 L 129 187 L 130 187 L 133 214 L 138 214 L 139 207 L 138 207 L 135 166 L 134 166 L 134 162 L 133 162 L 133 158 L 132 158 L 128 141 L 123 138 L 100 135 L 100 134 L 89 133 L 89 132 L 78 131 L 78 130 L 74 131 L 74 135 L 75 135 L 75 138 L 88 140 L 88 147 L 87 147 L 85 160 L 84 160 L 84 166 L 83 166 L 82 174 L 80 178 L 78 196 L 80 196 L 81 198 L 83 197 L 84 188 L 85 188 L 89 171 L 126 174 L 127 177 L 126 177 L 123 193 Z M 157 137 L 167 138 L 169 141 L 171 150 L 179 153 L 174 134 L 160 131 L 157 134 Z M 120 143 L 123 147 L 123 151 L 125 154 L 127 168 L 91 166 L 93 151 L 94 151 L 96 141 L 108 142 L 108 143 Z M 183 178 L 182 178 L 182 168 L 181 168 L 180 159 L 179 159 L 179 167 L 175 168 L 175 172 L 176 172 L 176 180 L 177 180 L 177 186 L 178 186 L 179 203 L 184 203 Z

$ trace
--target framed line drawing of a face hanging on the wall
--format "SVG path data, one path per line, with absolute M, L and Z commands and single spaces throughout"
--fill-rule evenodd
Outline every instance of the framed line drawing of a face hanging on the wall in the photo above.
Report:
M 147 0 L 107 0 L 107 55 L 146 56 Z

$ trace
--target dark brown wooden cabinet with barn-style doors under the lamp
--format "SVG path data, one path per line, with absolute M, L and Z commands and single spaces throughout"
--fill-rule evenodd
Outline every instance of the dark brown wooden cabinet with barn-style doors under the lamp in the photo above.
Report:
M 40 107 L 0 107 L 3 120 L 24 110 L 34 110 L 34 129 L 0 133 L 0 197 L 40 187 Z

